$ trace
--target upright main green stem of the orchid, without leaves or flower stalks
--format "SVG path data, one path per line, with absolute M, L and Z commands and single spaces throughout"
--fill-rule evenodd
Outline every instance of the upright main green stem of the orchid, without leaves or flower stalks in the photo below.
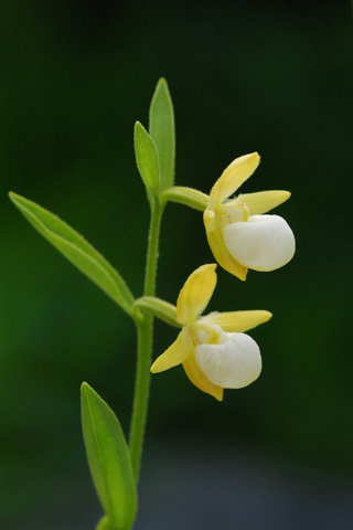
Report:
M 145 277 L 145 296 L 154 296 L 156 292 L 159 233 L 162 212 L 163 209 L 160 206 L 159 203 L 151 204 L 151 221 L 148 239 L 147 266 Z M 140 319 L 137 319 L 137 377 L 135 383 L 135 396 L 129 441 L 130 458 L 136 483 L 138 483 L 139 478 L 146 418 L 148 411 L 150 367 L 152 356 L 153 317 L 151 315 L 143 315 Z

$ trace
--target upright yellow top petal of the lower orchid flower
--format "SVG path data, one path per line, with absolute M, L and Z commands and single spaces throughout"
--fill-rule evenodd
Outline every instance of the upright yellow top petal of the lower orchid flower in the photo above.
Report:
M 193 322 L 210 301 L 217 282 L 215 263 L 202 265 L 186 279 L 176 301 L 176 319 L 180 324 Z

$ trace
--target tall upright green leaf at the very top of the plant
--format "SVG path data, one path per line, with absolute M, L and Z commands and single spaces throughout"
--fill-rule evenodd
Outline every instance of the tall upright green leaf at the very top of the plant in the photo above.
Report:
M 174 110 L 163 78 L 159 80 L 151 100 L 149 132 L 157 147 L 163 191 L 174 183 L 175 166 Z

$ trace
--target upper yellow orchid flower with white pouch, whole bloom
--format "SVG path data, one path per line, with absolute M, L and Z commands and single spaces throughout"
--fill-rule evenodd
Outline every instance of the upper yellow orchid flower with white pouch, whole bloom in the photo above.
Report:
M 204 211 L 208 244 L 223 268 L 246 279 L 248 268 L 275 271 L 295 255 L 296 241 L 279 215 L 263 215 L 289 199 L 288 191 L 261 191 L 228 198 L 259 165 L 257 152 L 236 158 L 210 193 Z

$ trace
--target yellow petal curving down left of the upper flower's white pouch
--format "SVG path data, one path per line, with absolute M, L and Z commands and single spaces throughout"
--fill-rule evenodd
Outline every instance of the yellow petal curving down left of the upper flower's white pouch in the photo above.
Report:
M 236 262 L 225 246 L 223 232 L 215 219 L 214 212 L 212 212 L 211 210 L 205 210 L 203 220 L 206 227 L 208 245 L 211 247 L 211 251 L 213 252 L 215 259 L 225 271 L 233 274 L 237 278 L 245 280 L 247 275 L 247 267 Z

